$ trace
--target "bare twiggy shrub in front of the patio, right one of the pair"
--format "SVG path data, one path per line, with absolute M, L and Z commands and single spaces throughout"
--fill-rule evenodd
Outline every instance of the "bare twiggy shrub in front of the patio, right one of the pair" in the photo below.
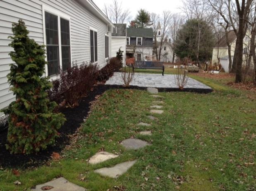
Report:
M 175 79 L 175 84 L 179 86 L 180 90 L 183 90 L 184 87 L 187 85 L 188 83 L 188 70 L 187 70 L 187 66 L 184 65 L 183 68 L 181 67 L 177 67 L 175 70 L 175 75 L 174 75 L 174 79 Z

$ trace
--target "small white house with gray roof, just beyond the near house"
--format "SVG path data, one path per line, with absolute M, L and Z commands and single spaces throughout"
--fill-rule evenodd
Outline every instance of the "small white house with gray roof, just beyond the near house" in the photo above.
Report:
M 119 48 L 123 51 L 123 64 L 126 64 L 126 24 L 114 24 L 111 42 L 111 56 L 115 57 Z

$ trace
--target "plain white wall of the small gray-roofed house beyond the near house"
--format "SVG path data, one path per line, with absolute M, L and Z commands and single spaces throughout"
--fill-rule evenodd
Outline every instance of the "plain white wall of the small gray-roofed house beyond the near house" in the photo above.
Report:
M 111 57 L 116 57 L 116 52 L 119 48 L 123 51 L 123 64 L 125 65 L 126 60 L 126 37 L 113 37 L 112 36 L 112 46 L 111 46 Z

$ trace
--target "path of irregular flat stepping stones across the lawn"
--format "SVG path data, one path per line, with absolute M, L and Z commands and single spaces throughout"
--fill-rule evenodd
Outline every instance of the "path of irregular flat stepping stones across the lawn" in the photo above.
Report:
M 147 88 L 147 90 L 150 93 L 154 94 L 154 95 L 151 95 L 154 98 L 164 98 L 163 96 L 155 95 L 158 93 L 158 90 L 156 88 Z M 153 103 L 154 104 L 164 104 L 164 101 L 153 101 Z M 162 114 L 164 112 L 163 110 L 157 110 L 162 107 L 163 106 L 158 106 L 158 105 L 150 106 L 150 108 L 156 108 L 156 109 L 151 109 L 150 112 Z M 154 116 L 147 116 L 147 118 L 149 118 L 151 120 L 156 120 L 156 118 Z M 144 123 L 144 122 L 140 122 L 140 123 L 138 123 L 138 125 L 145 126 L 145 127 L 151 126 L 151 124 Z M 147 130 L 147 131 L 141 131 L 141 132 L 139 132 L 139 134 L 145 135 L 145 136 L 151 136 L 152 132 Z M 149 144 L 146 141 L 142 141 L 140 139 L 125 139 L 121 142 L 121 145 L 124 146 L 126 149 L 138 150 L 138 149 L 144 148 L 145 146 L 150 146 L 151 144 Z M 118 157 L 118 155 L 108 153 L 105 151 L 101 151 L 101 152 L 96 153 L 91 158 L 89 158 L 88 163 L 92 164 L 92 165 L 99 164 L 106 160 L 111 160 L 111 159 L 117 158 L 117 157 Z M 119 176 L 121 176 L 122 174 L 127 172 L 127 170 L 129 170 L 130 167 L 132 167 L 135 163 L 136 163 L 136 160 L 127 161 L 124 163 L 119 163 L 119 164 L 115 165 L 114 167 L 100 168 L 100 169 L 94 170 L 94 172 L 96 172 L 102 176 L 118 178 Z M 68 180 L 66 180 L 63 177 L 52 180 L 50 182 L 46 182 L 45 184 L 40 184 L 40 185 L 36 186 L 36 188 L 31 189 L 31 191 L 42 191 L 42 190 L 86 191 L 86 189 L 82 188 L 81 186 L 77 186 L 75 184 L 68 182 Z

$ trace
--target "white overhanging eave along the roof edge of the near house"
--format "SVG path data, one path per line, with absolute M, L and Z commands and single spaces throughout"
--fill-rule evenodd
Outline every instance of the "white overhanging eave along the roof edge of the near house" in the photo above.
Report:
M 104 21 L 106 24 L 114 27 L 114 24 L 109 20 L 108 17 L 99 9 L 99 7 L 92 0 L 78 0 L 82 5 L 84 5 L 89 11 L 95 14 L 99 19 Z

